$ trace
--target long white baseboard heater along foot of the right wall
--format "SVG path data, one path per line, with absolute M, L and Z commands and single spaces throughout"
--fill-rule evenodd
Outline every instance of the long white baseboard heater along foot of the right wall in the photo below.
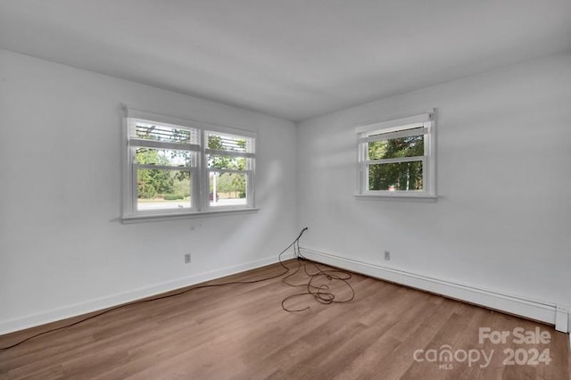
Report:
M 493 310 L 500 310 L 524 318 L 530 318 L 556 326 L 558 331 L 568 332 L 568 311 L 558 308 L 552 302 L 541 302 L 525 297 L 484 289 L 473 285 L 453 283 L 451 281 L 413 273 L 399 268 L 383 267 L 368 262 L 353 260 L 331 253 L 301 248 L 302 255 L 338 268 L 352 270 L 370 277 L 380 278 L 401 285 L 407 285 L 430 293 L 474 303 Z

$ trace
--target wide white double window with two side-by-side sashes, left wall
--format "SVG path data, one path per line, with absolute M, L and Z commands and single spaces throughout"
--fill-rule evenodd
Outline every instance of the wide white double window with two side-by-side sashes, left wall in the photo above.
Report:
M 123 221 L 254 208 L 255 133 L 124 111 Z

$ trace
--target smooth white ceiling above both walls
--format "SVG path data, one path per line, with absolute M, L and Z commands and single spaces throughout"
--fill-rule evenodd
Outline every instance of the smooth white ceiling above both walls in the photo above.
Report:
M 305 120 L 571 49 L 571 0 L 0 0 L 0 47 Z

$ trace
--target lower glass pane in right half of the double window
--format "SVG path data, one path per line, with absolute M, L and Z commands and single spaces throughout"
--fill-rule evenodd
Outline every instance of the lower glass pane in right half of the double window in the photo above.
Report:
M 210 173 L 210 201 L 211 206 L 245 205 L 246 201 L 246 173 Z

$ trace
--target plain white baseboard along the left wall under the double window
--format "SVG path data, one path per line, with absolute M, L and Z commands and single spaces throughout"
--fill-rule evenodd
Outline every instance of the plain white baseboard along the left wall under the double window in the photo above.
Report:
M 283 260 L 293 257 L 292 254 L 284 254 Z M 0 335 L 23 330 L 29 327 L 40 326 L 46 323 L 55 322 L 65 318 L 77 317 L 82 314 L 97 310 L 111 308 L 126 302 L 137 301 L 155 294 L 166 293 L 180 289 L 189 285 L 200 284 L 212 279 L 233 275 L 245 270 L 260 268 L 277 262 L 277 257 L 253 260 L 243 264 L 220 268 L 210 272 L 201 273 L 190 277 L 178 278 L 161 284 L 145 286 L 125 293 L 117 293 L 107 297 L 93 299 L 87 302 L 79 302 L 62 308 L 47 310 L 41 313 L 32 314 L 22 318 L 14 318 L 0 321 Z

